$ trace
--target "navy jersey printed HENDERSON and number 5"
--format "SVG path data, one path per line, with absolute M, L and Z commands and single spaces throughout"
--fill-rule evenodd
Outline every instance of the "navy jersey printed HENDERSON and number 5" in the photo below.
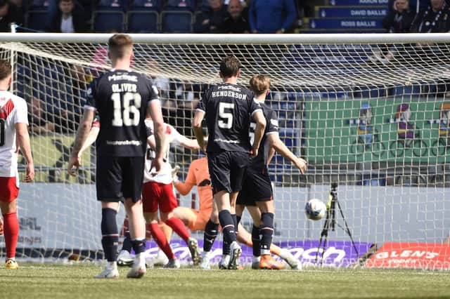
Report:
M 250 119 L 261 107 L 255 93 L 236 84 L 218 84 L 205 91 L 197 109 L 205 112 L 207 152 L 250 153 Z

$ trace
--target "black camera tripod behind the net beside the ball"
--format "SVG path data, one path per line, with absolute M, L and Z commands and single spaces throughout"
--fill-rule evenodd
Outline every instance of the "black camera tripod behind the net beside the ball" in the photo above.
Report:
M 330 208 L 326 211 L 326 220 L 325 223 L 323 223 L 323 229 L 321 232 L 321 239 L 319 240 L 319 247 L 317 248 L 316 252 L 316 264 L 319 260 L 319 251 L 321 248 L 322 256 L 320 258 L 320 265 L 323 263 L 323 255 L 325 254 L 326 247 L 327 247 L 327 241 L 328 241 L 328 231 L 331 229 L 333 232 L 335 231 L 335 225 L 338 225 L 342 230 L 344 230 L 348 236 L 350 237 L 350 240 L 352 241 L 352 246 L 354 248 L 354 251 L 356 252 L 356 255 L 359 256 L 358 249 L 356 248 L 356 245 L 354 244 L 352 232 L 350 232 L 349 226 L 347 225 L 347 220 L 345 220 L 344 212 L 342 212 L 342 208 L 340 207 L 339 201 L 338 201 L 338 183 L 332 182 L 331 183 L 331 190 L 330 190 L 330 197 L 331 197 L 331 204 Z M 340 212 L 340 215 L 342 216 L 342 220 L 344 220 L 345 227 L 342 227 L 342 225 L 339 225 L 339 223 L 336 223 L 336 204 L 338 205 L 338 209 Z M 323 241 L 323 243 L 322 243 Z

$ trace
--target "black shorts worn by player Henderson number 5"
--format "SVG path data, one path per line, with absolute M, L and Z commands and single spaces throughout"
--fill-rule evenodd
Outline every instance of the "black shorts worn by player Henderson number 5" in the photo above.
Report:
M 245 171 L 250 164 L 246 152 L 208 153 L 208 169 L 211 176 L 212 193 L 237 192 L 242 188 Z

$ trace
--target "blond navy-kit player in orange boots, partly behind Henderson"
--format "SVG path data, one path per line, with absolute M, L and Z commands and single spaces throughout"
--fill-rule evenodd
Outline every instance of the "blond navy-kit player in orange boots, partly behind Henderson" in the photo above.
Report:
M 245 173 L 243 189 L 239 192 L 236 203 L 236 214 L 239 222 L 243 209 L 247 206 L 253 218 L 252 241 L 254 261 L 252 268 L 280 270 L 284 268 L 284 265 L 276 263 L 270 255 L 270 245 L 274 234 L 275 208 L 267 165 L 274 155 L 274 150 L 292 161 L 300 169 L 301 173 L 306 171 L 307 162 L 304 159 L 295 157 L 295 154 L 280 140 L 276 113 L 264 104 L 266 95 L 269 93 L 269 88 L 270 79 L 264 75 L 255 75 L 250 79 L 250 89 L 256 93 L 257 102 L 259 102 L 262 108 L 267 126 L 258 155 L 252 159 L 250 166 L 247 168 L 247 173 Z M 252 130 L 255 125 L 252 124 L 250 127 L 250 130 Z M 252 134 L 253 132 L 250 131 L 250 135 Z M 260 235 L 261 238 L 259 237 Z M 298 268 L 300 268 L 300 265 L 293 267 L 293 269 Z

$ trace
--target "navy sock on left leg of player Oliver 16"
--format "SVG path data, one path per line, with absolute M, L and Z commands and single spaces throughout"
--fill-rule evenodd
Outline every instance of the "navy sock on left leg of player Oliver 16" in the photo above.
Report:
M 119 244 L 119 232 L 115 216 L 117 212 L 113 208 L 101 209 L 101 244 L 108 262 L 115 262 L 117 255 L 117 244 Z

